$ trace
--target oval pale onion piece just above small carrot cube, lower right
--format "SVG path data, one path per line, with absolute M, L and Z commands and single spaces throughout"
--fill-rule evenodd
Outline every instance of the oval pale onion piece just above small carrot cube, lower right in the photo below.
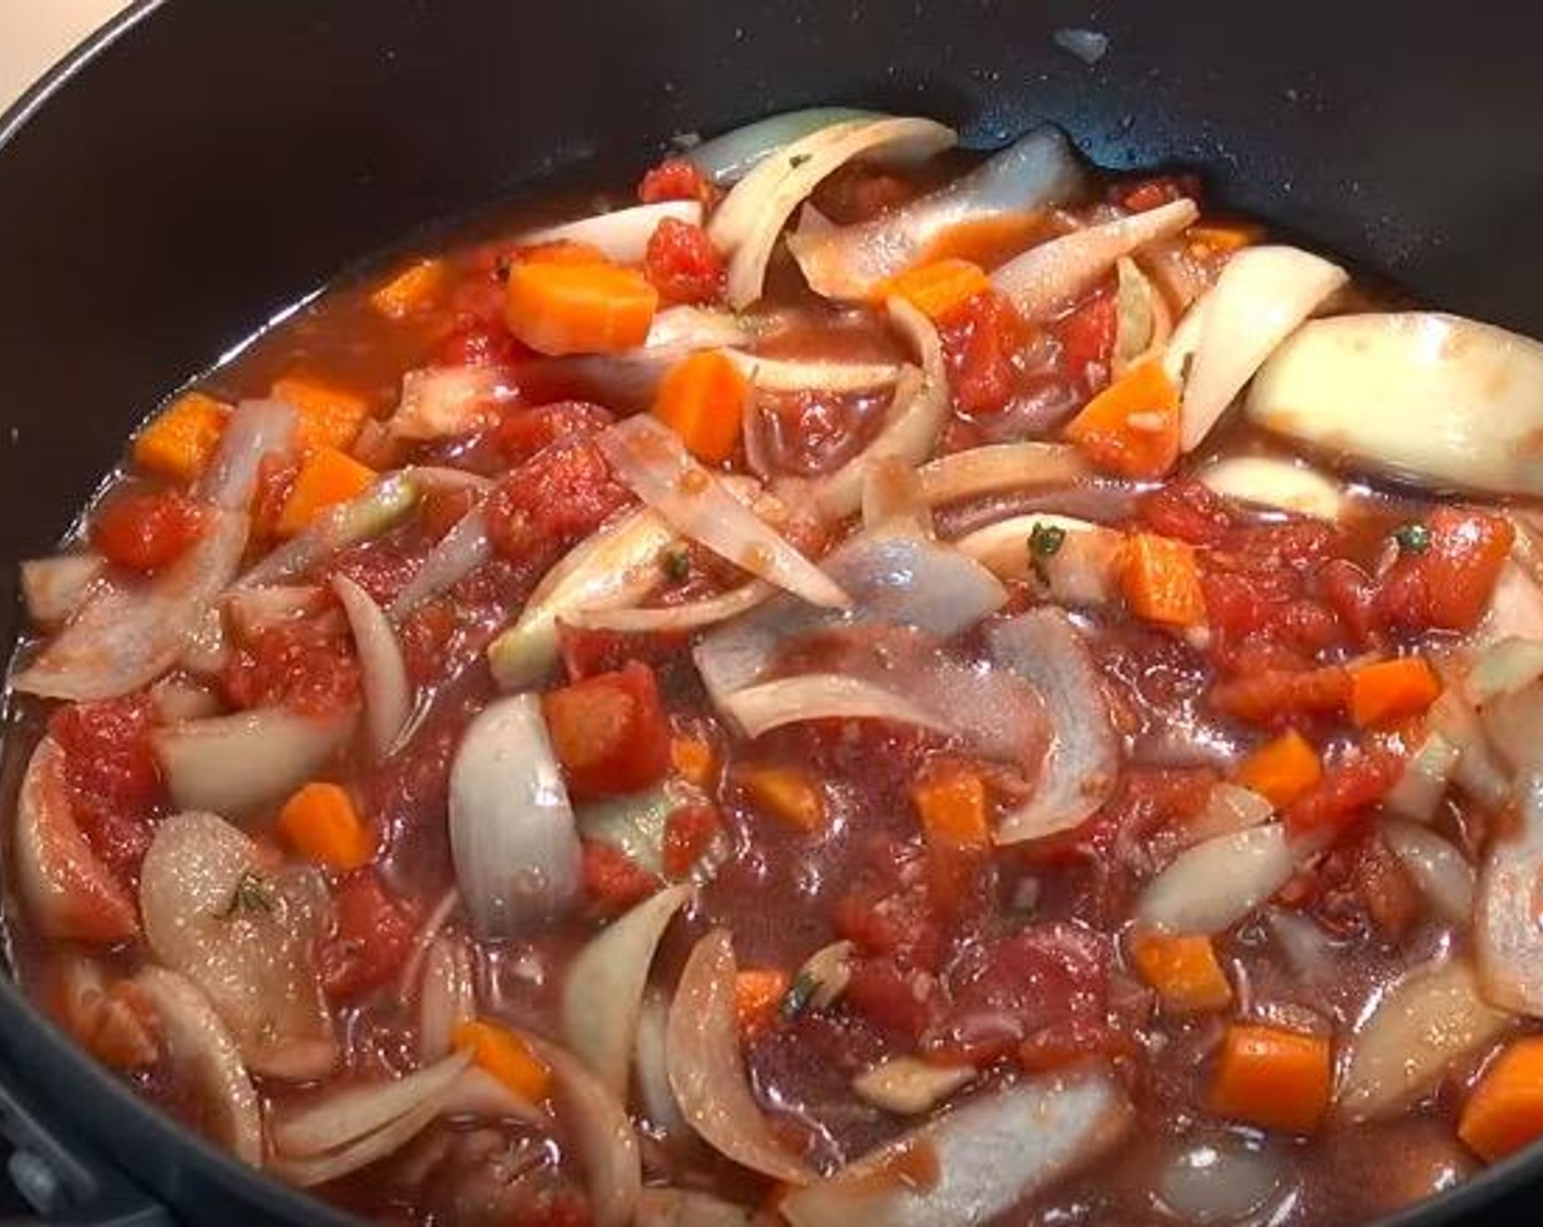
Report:
M 1136 914 L 1176 934 L 1219 934 L 1290 881 L 1296 855 L 1279 823 L 1185 849 L 1146 883 Z

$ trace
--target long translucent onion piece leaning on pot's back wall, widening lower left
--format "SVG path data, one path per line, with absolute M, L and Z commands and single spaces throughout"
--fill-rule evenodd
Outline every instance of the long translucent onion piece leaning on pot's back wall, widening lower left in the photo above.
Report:
M 866 299 L 881 281 L 924 259 L 950 228 L 1014 216 L 1031 224 L 1035 211 L 1068 202 L 1083 184 L 1066 137 L 1042 127 L 938 191 L 858 225 L 799 230 L 787 245 L 815 293 Z

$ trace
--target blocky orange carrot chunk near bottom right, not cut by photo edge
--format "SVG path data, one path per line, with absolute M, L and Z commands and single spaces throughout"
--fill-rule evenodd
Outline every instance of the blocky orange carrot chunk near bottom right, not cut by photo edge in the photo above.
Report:
M 1211 1077 L 1217 1116 L 1287 1133 L 1310 1133 L 1329 1110 L 1329 1040 L 1275 1026 L 1227 1028 Z

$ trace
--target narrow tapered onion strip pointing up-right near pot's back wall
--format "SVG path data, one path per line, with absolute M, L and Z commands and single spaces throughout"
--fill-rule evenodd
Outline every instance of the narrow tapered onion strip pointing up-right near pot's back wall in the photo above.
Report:
M 1145 213 L 1074 230 L 1008 261 L 991 275 L 991 282 L 1012 299 L 1026 319 L 1048 319 L 1091 290 L 1120 256 L 1177 235 L 1199 216 L 1194 201 L 1182 198 Z

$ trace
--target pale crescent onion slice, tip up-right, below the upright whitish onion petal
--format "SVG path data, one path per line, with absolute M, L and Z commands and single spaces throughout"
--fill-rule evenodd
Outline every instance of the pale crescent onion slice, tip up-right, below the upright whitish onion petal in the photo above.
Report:
M 693 895 L 671 886 L 614 920 L 579 951 L 563 982 L 563 1036 L 617 1099 L 626 1097 L 648 968 L 665 929 Z

